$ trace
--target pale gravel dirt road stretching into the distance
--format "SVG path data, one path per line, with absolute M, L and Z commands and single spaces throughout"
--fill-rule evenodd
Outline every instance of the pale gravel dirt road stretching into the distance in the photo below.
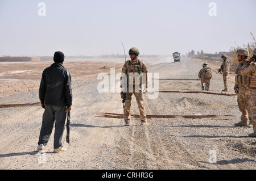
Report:
M 191 58 L 174 63 L 170 58 L 167 63 L 148 65 L 148 71 L 159 73 L 159 78 L 197 79 L 202 64 Z M 215 70 L 221 63 L 208 64 Z M 119 65 L 115 66 L 118 67 L 115 73 L 121 70 Z M 109 73 L 109 69 L 99 72 L 104 71 Z M 233 94 L 233 80 L 231 74 L 228 94 Z M 123 112 L 119 92 L 98 92 L 100 81 L 96 76 L 73 81 L 71 143 L 65 142 L 64 132 L 63 144 L 68 149 L 65 153 L 53 153 L 53 136 L 45 152 L 36 151 L 41 107 L 0 108 L 0 169 L 256 169 L 256 140 L 247 137 L 253 129 L 234 127 L 241 116 L 237 96 L 147 92 L 144 102 L 147 115 L 236 118 L 152 118 L 146 126 L 133 119 L 131 127 L 125 127 L 122 119 L 96 116 L 97 112 Z M 222 89 L 221 75 L 213 73 L 210 92 L 221 93 Z M 200 81 L 159 80 L 159 90 L 199 91 L 201 86 Z M 153 94 L 157 97 L 149 99 Z M 39 102 L 38 89 L 2 96 L 0 101 L 15 103 L 28 99 Z M 134 96 L 131 112 L 139 113 Z

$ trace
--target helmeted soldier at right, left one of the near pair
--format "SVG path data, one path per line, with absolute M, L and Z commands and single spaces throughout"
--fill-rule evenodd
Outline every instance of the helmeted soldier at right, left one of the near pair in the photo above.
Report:
M 249 116 L 247 111 L 247 102 L 246 102 L 246 84 L 247 84 L 247 75 L 241 75 L 241 70 L 249 66 L 249 61 L 247 57 L 249 56 L 249 50 L 243 48 L 237 50 L 238 61 L 240 62 L 238 68 L 236 69 L 236 83 L 234 85 L 234 92 L 237 94 L 237 103 L 238 108 L 241 111 L 241 121 L 236 123 L 236 127 L 250 127 L 248 125 Z

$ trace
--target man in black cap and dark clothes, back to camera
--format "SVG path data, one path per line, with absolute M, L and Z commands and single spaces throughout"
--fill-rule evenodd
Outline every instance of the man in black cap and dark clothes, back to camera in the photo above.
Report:
M 38 141 L 38 150 L 43 150 L 51 136 L 53 124 L 55 122 L 53 152 L 64 152 L 61 143 L 66 111 L 71 111 L 72 88 L 71 75 L 64 68 L 64 54 L 55 52 L 54 63 L 44 69 L 39 87 L 39 99 L 44 108 L 42 127 Z

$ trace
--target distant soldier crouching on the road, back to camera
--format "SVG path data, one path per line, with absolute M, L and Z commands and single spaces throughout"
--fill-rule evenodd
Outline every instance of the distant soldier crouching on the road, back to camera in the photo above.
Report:
M 208 67 L 207 63 L 203 64 L 203 69 L 199 71 L 198 77 L 201 79 L 202 90 L 208 91 L 210 87 L 210 79 L 212 79 L 212 70 Z

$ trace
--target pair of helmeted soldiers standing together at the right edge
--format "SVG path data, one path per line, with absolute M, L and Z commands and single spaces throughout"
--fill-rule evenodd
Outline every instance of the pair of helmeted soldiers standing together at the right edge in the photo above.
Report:
M 236 69 L 236 83 L 234 92 L 237 93 L 239 110 L 242 113 L 241 121 L 236 126 L 250 127 L 253 125 L 253 133 L 249 137 L 256 137 L 256 48 L 253 50 L 253 57 L 249 60 L 249 50 L 239 49 L 237 51 L 238 61 Z

